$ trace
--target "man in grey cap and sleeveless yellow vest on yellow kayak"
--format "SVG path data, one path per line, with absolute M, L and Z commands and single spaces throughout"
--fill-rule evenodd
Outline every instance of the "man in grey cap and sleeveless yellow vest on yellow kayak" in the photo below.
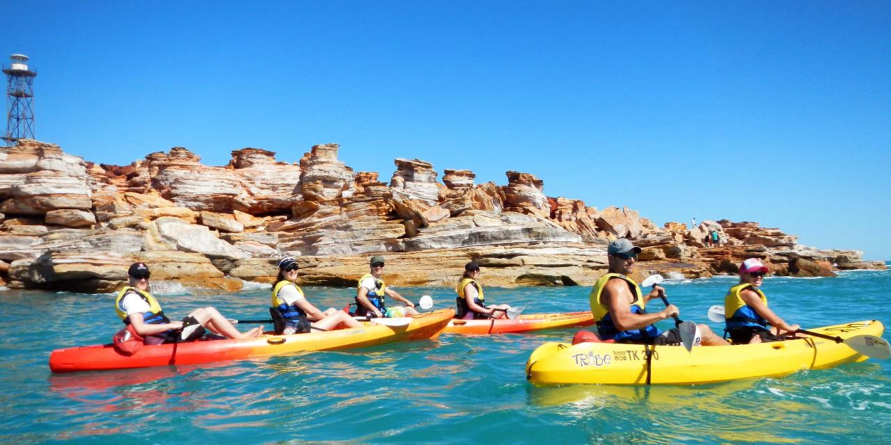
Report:
M 649 294 L 643 295 L 641 287 L 627 275 L 634 272 L 637 255 L 641 247 L 636 247 L 628 239 L 617 239 L 607 247 L 609 271 L 594 283 L 591 291 L 591 311 L 597 325 L 597 335 L 601 341 L 614 340 L 629 344 L 681 344 L 681 334 L 677 328 L 660 331 L 653 326 L 680 311 L 674 304 L 656 313 L 647 313 L 644 308 L 653 298 L 665 292 L 656 285 Z M 716 336 L 707 325 L 700 324 L 702 344 L 706 346 L 728 344 Z

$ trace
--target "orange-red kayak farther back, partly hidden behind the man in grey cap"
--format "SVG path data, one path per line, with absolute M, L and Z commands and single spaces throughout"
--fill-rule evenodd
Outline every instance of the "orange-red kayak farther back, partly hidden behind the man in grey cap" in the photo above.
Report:
M 446 334 L 507 334 L 542 329 L 575 328 L 594 324 L 591 311 L 520 314 L 516 319 L 452 320 Z

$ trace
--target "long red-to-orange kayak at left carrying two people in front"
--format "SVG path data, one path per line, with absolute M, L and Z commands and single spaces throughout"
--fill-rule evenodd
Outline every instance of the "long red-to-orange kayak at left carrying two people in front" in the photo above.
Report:
M 179 344 L 146 345 L 133 355 L 115 351 L 111 344 L 57 349 L 50 354 L 53 372 L 148 368 L 241 360 L 303 351 L 331 351 L 387 344 L 402 340 L 436 339 L 454 317 L 454 309 L 412 315 L 405 326 L 365 323 L 363 328 L 337 329 L 290 336 L 265 334 L 254 338 L 201 340 Z

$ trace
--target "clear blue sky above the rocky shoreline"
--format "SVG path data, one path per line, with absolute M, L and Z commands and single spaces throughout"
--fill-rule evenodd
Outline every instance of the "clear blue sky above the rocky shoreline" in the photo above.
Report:
M 661 225 L 727 218 L 891 259 L 891 3 L 12 2 L 37 139 L 126 165 L 312 145 L 517 170 Z

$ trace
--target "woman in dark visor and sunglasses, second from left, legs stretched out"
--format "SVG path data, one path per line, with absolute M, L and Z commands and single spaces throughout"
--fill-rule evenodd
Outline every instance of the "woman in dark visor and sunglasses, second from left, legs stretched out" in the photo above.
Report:
M 309 325 L 322 330 L 331 330 L 343 325 L 346 328 L 361 328 L 362 323 L 354 320 L 347 312 L 329 308 L 319 311 L 307 301 L 303 290 L 297 286 L 297 261 L 287 256 L 279 262 L 278 277 L 273 286 L 273 309 L 284 319 L 284 332 L 295 334 L 309 332 Z

